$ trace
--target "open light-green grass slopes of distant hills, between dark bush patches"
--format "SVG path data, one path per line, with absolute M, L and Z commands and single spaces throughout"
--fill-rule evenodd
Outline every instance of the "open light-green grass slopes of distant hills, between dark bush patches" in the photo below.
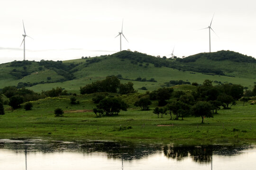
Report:
M 60 79 L 63 79 L 63 76 L 58 75 L 53 69 L 45 69 L 38 71 L 38 63 L 32 63 L 27 66 L 27 70 L 32 72 L 28 76 L 24 76 L 22 79 L 15 79 L 13 76 L 9 74 L 12 69 L 20 69 L 23 68 L 15 68 L 15 67 L 7 67 L 9 64 L 1 64 L 0 65 L 0 88 L 9 85 L 17 85 L 19 82 L 23 83 L 39 83 L 44 81 L 45 84 L 38 84 L 29 89 L 34 90 L 35 92 L 41 92 L 42 90 L 50 90 L 53 87 L 62 87 L 68 90 L 69 92 L 79 93 L 80 86 L 84 86 L 86 84 L 91 83 L 92 81 L 102 80 L 106 76 L 111 75 L 122 75 L 123 78 L 128 78 L 135 80 L 137 77 L 146 78 L 149 80 L 150 78 L 154 78 L 157 82 L 139 82 L 139 81 L 131 81 L 134 84 L 135 89 L 141 88 L 145 86 L 149 91 L 156 90 L 163 85 L 165 82 L 169 82 L 170 80 L 183 80 L 189 82 L 197 82 L 202 84 L 205 79 L 210 79 L 212 81 L 218 81 L 222 83 L 233 83 L 240 84 L 248 89 L 252 89 L 254 86 L 254 82 L 256 82 L 255 63 L 243 63 L 243 62 L 233 62 L 229 60 L 225 61 L 212 61 L 205 58 L 200 58 L 196 62 L 189 63 L 181 63 L 183 66 L 196 66 L 196 67 L 208 67 L 208 68 L 218 68 L 223 70 L 223 72 L 229 76 L 211 76 L 202 73 L 195 73 L 191 71 L 179 71 L 178 69 L 173 68 L 156 68 L 153 64 L 149 63 L 148 67 L 146 63 L 143 62 L 142 66 L 138 64 L 132 64 L 129 59 L 119 59 L 112 55 L 107 57 L 98 57 L 101 59 L 99 62 L 86 64 L 86 59 L 74 59 L 63 61 L 65 64 L 78 64 L 73 70 L 73 75 L 76 77 L 73 80 L 58 82 L 58 83 L 46 83 L 47 77 L 51 77 L 50 81 L 56 82 Z M 90 59 L 88 59 L 90 60 Z M 34 71 L 34 72 L 33 72 Z M 71 70 L 72 71 L 72 70 Z M 231 77 L 235 76 L 235 77 Z M 121 83 L 127 83 L 126 80 L 121 80 Z M 216 84 L 213 84 L 216 85 Z M 144 92 L 142 90 L 138 90 L 138 92 Z

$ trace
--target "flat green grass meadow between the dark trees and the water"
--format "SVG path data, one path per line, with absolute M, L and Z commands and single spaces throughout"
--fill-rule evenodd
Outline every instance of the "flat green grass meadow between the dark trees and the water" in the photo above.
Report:
M 93 112 L 64 113 L 58 118 L 54 110 L 59 107 L 66 110 L 91 110 L 95 104 L 93 95 L 78 95 L 80 104 L 71 105 L 68 98 L 46 98 L 33 102 L 32 110 L 23 108 L 8 110 L 0 116 L 0 137 L 53 137 L 65 140 L 75 139 L 125 139 L 155 140 L 183 144 L 233 143 L 256 140 L 256 105 L 243 106 L 238 102 L 231 110 L 219 110 L 214 118 L 188 117 L 184 120 L 169 120 L 170 115 L 157 119 L 151 110 L 141 111 L 130 105 L 128 111 L 119 116 L 96 118 Z M 70 97 L 70 96 L 68 96 Z M 131 97 L 132 98 L 132 97 Z M 124 100 L 130 101 L 127 96 Z M 126 127 L 125 130 L 113 130 L 113 127 Z M 143 126 L 144 125 L 144 126 Z M 157 126 L 173 125 L 173 126 Z M 132 128 L 127 128 L 127 127 Z M 234 130 L 238 129 L 238 130 Z

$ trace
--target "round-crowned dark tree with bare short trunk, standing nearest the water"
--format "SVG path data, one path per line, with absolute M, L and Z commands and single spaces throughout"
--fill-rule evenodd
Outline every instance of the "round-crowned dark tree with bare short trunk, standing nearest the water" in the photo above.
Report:
M 206 118 L 213 118 L 213 114 L 211 111 L 211 104 L 205 101 L 198 101 L 192 107 L 192 115 L 195 117 L 201 117 L 203 123 L 203 119 Z

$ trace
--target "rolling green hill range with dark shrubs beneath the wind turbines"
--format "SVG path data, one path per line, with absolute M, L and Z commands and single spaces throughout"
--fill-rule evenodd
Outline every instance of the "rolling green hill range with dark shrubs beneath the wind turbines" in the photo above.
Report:
M 131 81 L 135 89 L 144 86 L 149 91 L 170 85 L 170 80 L 201 84 L 205 79 L 210 79 L 217 83 L 241 84 L 252 88 L 256 82 L 256 59 L 233 51 L 200 53 L 176 60 L 137 51 L 121 51 L 63 62 L 13 61 L 0 64 L 0 88 L 26 86 L 41 92 L 59 86 L 79 93 L 80 86 L 110 75 L 119 76 L 122 83 Z

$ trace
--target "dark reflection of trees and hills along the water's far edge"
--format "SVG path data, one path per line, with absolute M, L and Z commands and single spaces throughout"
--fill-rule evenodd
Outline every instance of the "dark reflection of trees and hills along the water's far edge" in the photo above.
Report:
M 185 157 L 191 157 L 196 162 L 210 162 L 212 155 L 236 155 L 242 150 L 255 148 L 255 145 L 233 146 L 233 145 L 210 145 L 210 146 L 174 146 L 163 144 L 141 144 L 132 142 L 110 142 L 110 141 L 11 141 L 0 140 L 0 149 L 11 149 L 15 152 L 78 152 L 78 153 L 103 153 L 108 158 L 135 160 L 141 159 L 153 153 L 163 151 L 167 158 L 182 161 Z

